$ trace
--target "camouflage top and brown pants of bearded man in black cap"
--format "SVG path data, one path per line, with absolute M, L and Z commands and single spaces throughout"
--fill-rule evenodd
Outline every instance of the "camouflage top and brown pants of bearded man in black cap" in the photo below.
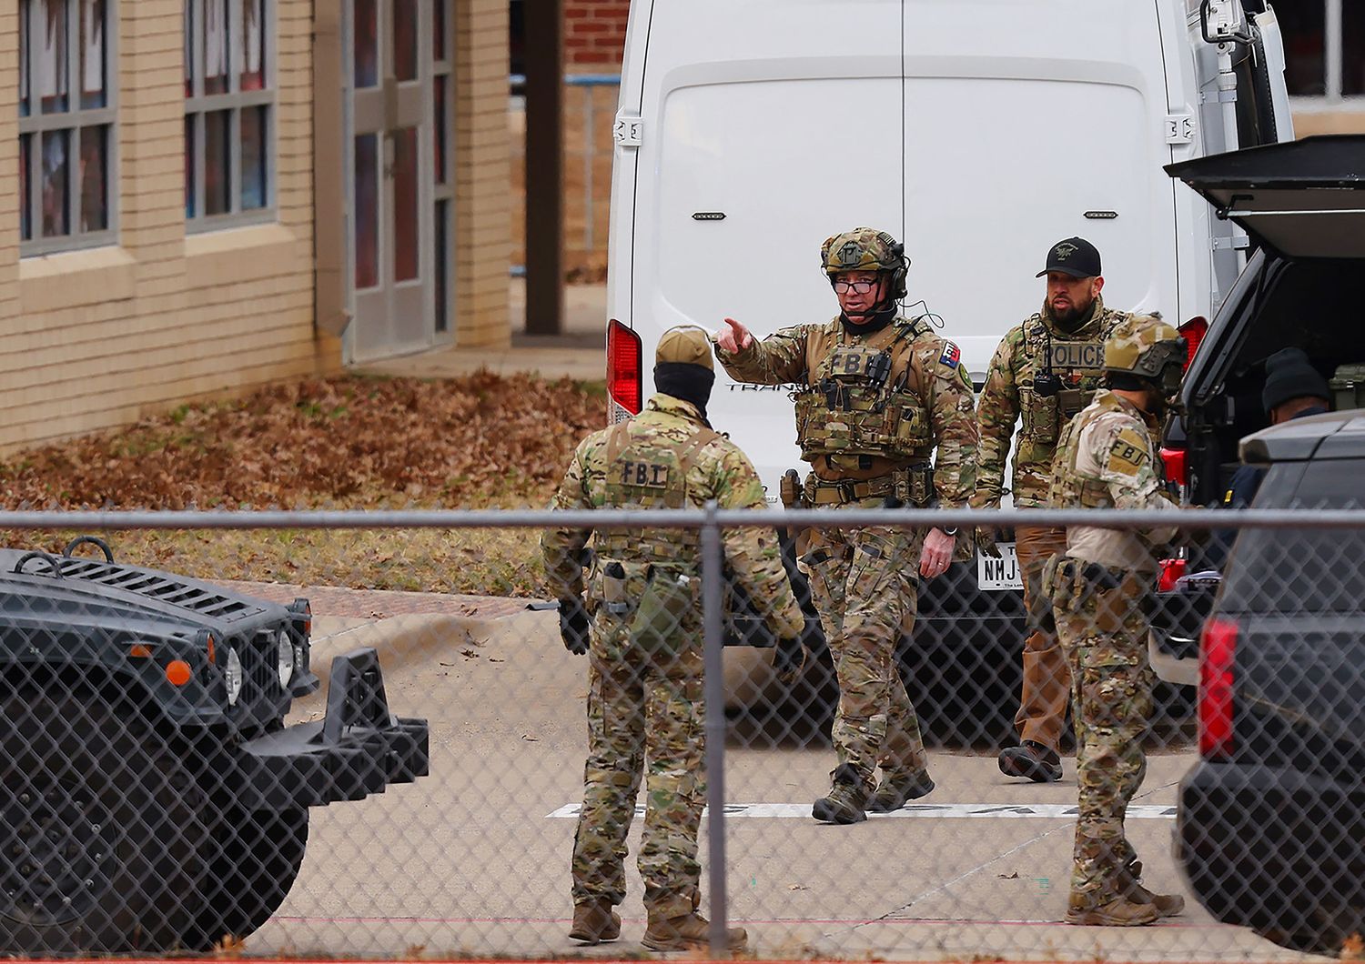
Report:
M 1106 308 L 1103 299 L 1096 296 L 1089 316 L 1076 330 L 1065 331 L 1044 301 L 1040 312 L 1005 334 L 976 405 L 980 443 L 973 507 L 999 507 L 1006 491 L 1005 460 L 1020 416 L 1024 424 L 1014 453 L 1014 504 L 1020 509 L 1046 504 L 1058 432 L 1093 398 L 1103 374 L 1104 340 L 1125 318 L 1126 312 Z M 1061 379 L 1062 389 L 1052 397 L 1043 397 L 1033 390 L 1033 380 L 1048 370 Z M 1035 612 L 1033 597 L 1039 593 L 1043 564 L 1066 547 L 1066 533 L 1020 526 L 1014 539 L 1024 605 Z M 1055 751 L 1066 720 L 1072 674 L 1057 645 L 1057 634 L 1032 629 L 1024 639 L 1024 686 L 1014 727 L 1020 740 L 1033 740 Z

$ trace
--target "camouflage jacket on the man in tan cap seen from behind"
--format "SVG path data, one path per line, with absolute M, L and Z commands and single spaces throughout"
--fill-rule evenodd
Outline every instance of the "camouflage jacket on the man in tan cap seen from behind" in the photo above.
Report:
M 616 431 L 603 428 L 579 443 L 551 509 L 642 507 L 655 495 L 658 507 L 702 507 L 713 499 L 721 509 L 767 504 L 749 460 L 729 439 L 708 430 L 689 402 L 657 393 L 622 435 Z M 613 560 L 631 563 L 632 570 L 648 563 L 692 571 L 700 567 L 695 529 L 549 529 L 541 537 L 541 554 L 556 599 L 583 593 L 579 559 L 590 536 L 597 549 L 587 586 L 590 609 L 601 601 L 602 570 Z M 725 529 L 721 539 L 725 559 L 755 609 L 768 614 L 779 635 L 797 635 L 805 620 L 782 567 L 775 534 L 743 528 Z M 640 586 L 629 590 L 637 599 Z

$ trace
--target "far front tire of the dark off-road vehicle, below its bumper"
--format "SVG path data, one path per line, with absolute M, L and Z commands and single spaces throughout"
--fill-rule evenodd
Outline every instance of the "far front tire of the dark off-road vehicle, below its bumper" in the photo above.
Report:
M 270 919 L 293 886 L 308 843 L 307 807 L 232 810 L 214 834 L 203 909 L 184 946 L 209 950 L 243 938 Z

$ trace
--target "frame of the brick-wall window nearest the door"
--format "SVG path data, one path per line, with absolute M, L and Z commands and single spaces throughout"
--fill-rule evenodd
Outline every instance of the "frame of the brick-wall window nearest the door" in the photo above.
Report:
M 191 64 L 190 78 L 192 93 L 184 98 L 184 117 L 194 124 L 194 215 L 186 214 L 187 235 L 199 235 L 227 228 L 273 224 L 278 220 L 278 30 L 276 20 L 276 0 L 261 0 L 261 20 L 265 52 L 261 71 L 265 75 L 261 90 L 242 90 L 242 71 L 246 65 L 246 52 L 242 49 L 243 0 L 222 0 L 228 7 L 228 90 L 221 94 L 205 94 L 205 44 L 203 7 L 206 0 L 184 0 L 182 16 L 191 18 L 182 29 L 190 30 Z M 180 82 L 184 89 L 184 78 Z M 253 108 L 266 108 L 265 134 L 261 146 L 265 151 L 265 205 L 248 210 L 242 209 L 242 112 Z M 210 113 L 228 110 L 228 145 L 232 162 L 228 170 L 228 198 L 231 209 L 222 214 L 205 213 L 205 130 Z M 184 150 L 191 150 L 186 142 Z M 188 190 L 190 185 L 186 185 Z

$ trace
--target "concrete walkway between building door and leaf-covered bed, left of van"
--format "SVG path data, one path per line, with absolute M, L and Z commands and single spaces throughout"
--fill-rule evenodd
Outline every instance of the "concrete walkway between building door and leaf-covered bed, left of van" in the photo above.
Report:
M 606 378 L 606 285 L 566 285 L 564 334 L 526 333 L 526 281 L 511 280 L 512 346 L 506 349 L 442 345 L 429 352 L 404 355 L 358 365 L 371 375 L 453 378 L 486 368 L 497 375 L 517 371 L 543 378 L 601 382 Z

